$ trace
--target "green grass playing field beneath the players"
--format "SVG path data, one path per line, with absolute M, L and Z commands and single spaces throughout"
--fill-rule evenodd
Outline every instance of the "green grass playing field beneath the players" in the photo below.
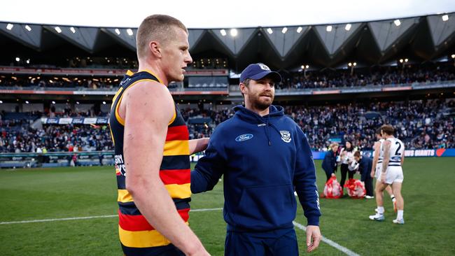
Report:
M 455 158 L 407 158 L 405 225 L 393 225 L 391 201 L 386 221 L 373 222 L 374 199 L 321 199 L 321 232 L 359 255 L 455 255 Z M 325 175 L 318 168 L 318 186 Z M 358 178 L 358 177 L 357 177 Z M 116 215 L 112 166 L 0 171 L 0 222 Z M 223 207 L 223 186 L 193 195 L 193 209 Z M 117 218 L 91 218 L 0 225 L 0 255 L 123 255 Z M 302 209 L 296 222 L 306 225 Z M 222 211 L 190 214 L 190 226 L 212 255 L 223 255 Z M 300 255 L 304 232 L 297 230 Z M 321 243 L 312 255 L 344 255 Z

